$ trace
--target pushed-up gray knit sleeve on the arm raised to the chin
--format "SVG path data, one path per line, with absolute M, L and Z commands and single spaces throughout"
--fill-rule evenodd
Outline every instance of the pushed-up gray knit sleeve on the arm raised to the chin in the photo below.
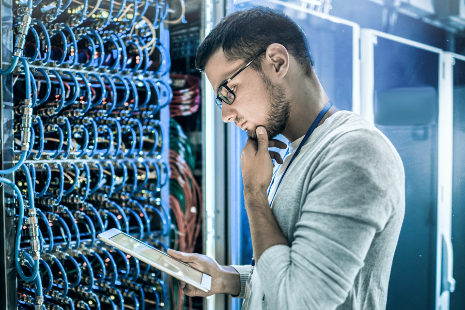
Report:
M 402 164 L 374 131 L 343 136 L 308 172 L 292 244 L 268 248 L 257 263 L 271 310 L 336 309 L 392 214 Z

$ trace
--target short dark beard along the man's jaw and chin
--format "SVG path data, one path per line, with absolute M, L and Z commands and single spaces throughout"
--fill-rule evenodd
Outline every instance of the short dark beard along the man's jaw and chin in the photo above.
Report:
M 262 72 L 262 80 L 270 97 L 270 112 L 265 124 L 257 124 L 253 129 L 247 130 L 248 138 L 257 140 L 257 127 L 263 126 L 268 139 L 273 139 L 284 131 L 289 120 L 291 102 L 287 99 L 284 87 L 275 85 Z

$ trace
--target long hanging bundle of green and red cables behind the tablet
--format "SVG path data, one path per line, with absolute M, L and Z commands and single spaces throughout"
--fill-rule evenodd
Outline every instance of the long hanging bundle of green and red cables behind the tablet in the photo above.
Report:
M 202 221 L 202 192 L 192 173 L 194 165 L 195 157 L 190 141 L 181 126 L 170 119 L 170 208 L 174 215 L 176 229 L 173 248 L 186 253 L 194 252 Z M 182 310 L 184 293 L 179 288 L 175 292 L 172 278 L 170 278 L 170 285 L 173 309 Z M 190 297 L 189 309 L 192 309 Z

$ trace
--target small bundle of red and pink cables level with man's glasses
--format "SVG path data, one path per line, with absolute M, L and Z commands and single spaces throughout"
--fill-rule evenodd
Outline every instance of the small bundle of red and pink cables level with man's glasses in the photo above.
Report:
M 170 102 L 170 117 L 192 115 L 199 110 L 201 102 L 200 78 L 183 74 L 171 74 L 172 85 L 182 88 L 173 90 Z

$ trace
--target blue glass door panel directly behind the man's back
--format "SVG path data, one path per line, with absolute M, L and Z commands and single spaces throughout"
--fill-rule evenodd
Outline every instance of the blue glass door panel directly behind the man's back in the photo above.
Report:
M 387 310 L 435 307 L 438 163 L 438 53 L 373 40 L 374 124 L 405 170 L 405 217 L 394 255 Z

